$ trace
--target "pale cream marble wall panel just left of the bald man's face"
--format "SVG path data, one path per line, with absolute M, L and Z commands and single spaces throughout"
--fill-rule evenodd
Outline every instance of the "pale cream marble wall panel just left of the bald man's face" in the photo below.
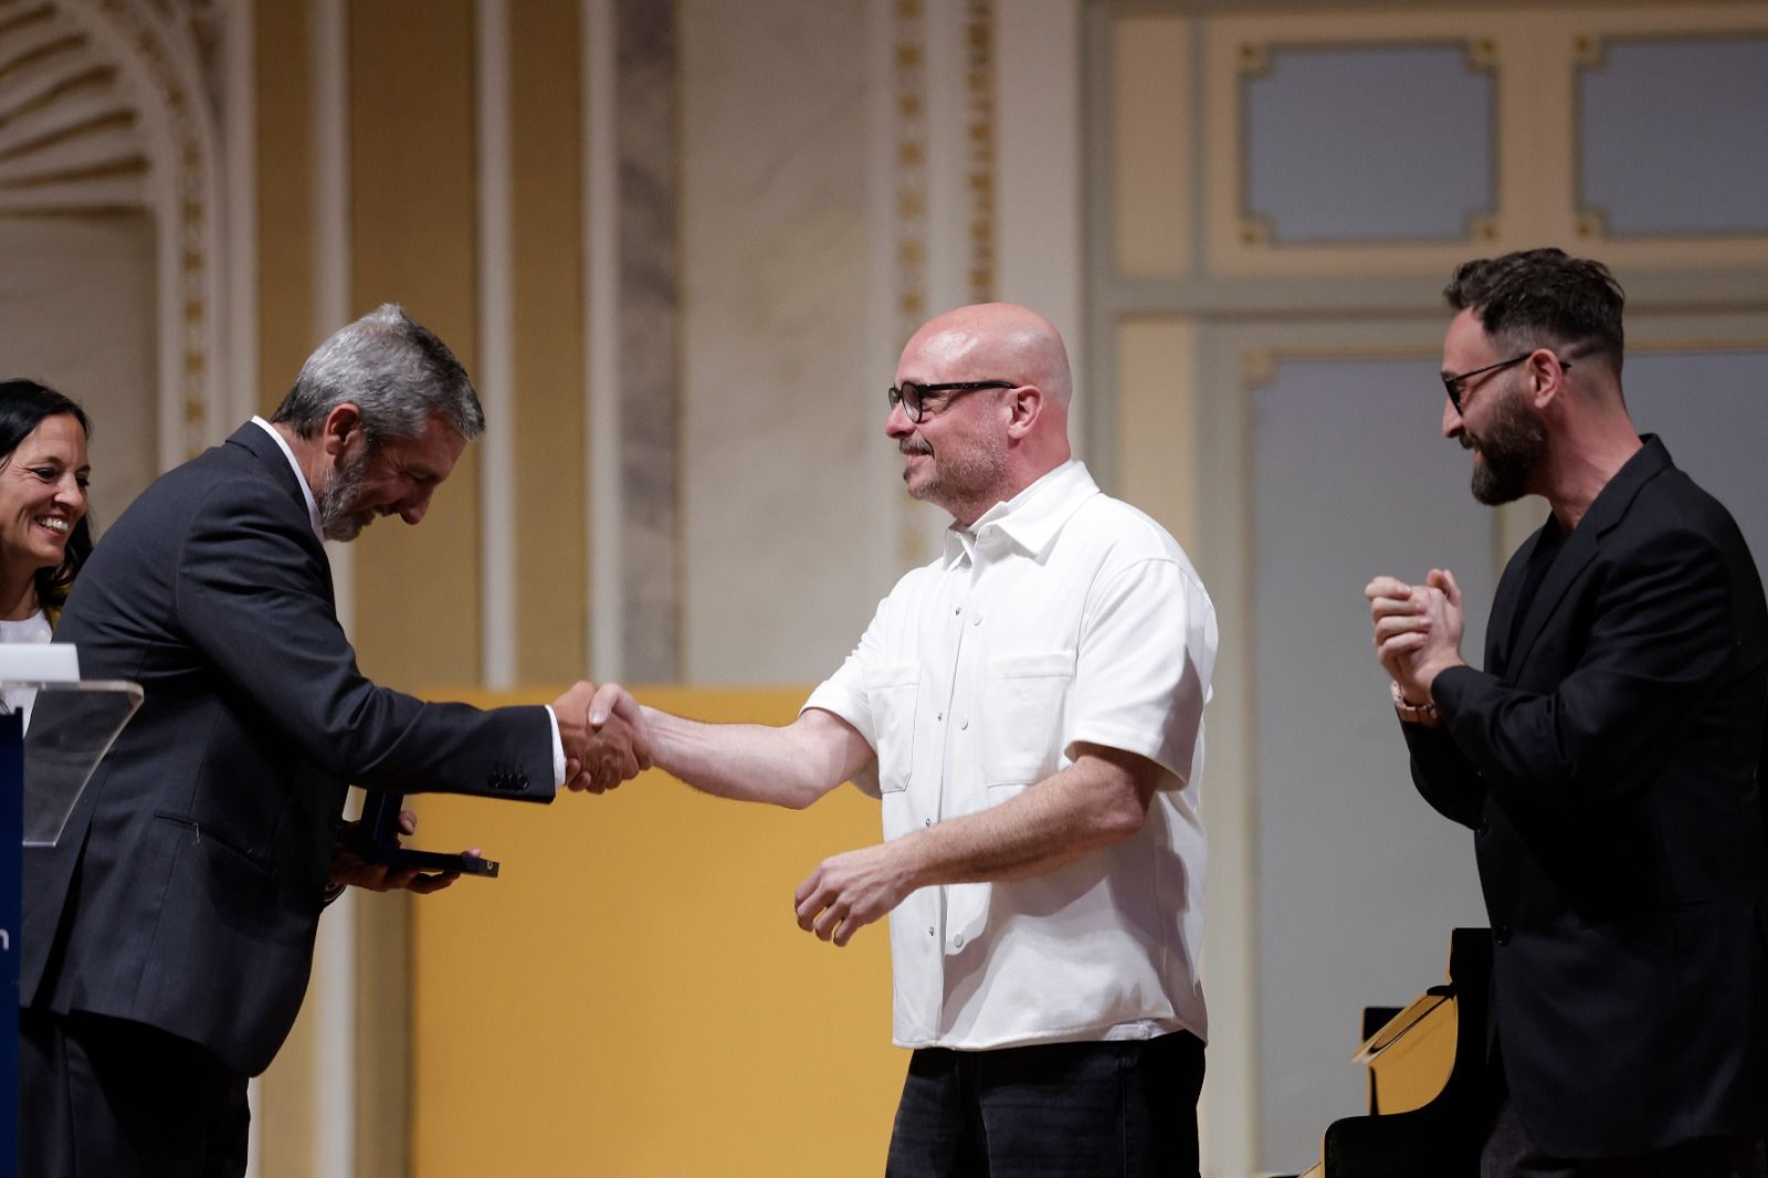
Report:
M 686 669 L 812 683 L 900 573 L 902 483 L 877 462 L 868 4 L 679 12 Z

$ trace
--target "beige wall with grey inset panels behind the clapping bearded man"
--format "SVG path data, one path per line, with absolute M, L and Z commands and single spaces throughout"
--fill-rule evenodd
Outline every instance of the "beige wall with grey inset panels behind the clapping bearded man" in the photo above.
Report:
M 1460 451 L 1436 437 L 1437 290 L 1459 260 L 1559 244 L 1621 276 L 1635 350 L 1738 348 L 1754 371 L 1768 219 L 1609 233 L 1602 202 L 1674 219 L 1662 177 L 1718 161 L 1690 152 L 1708 136 L 1683 127 L 1680 164 L 1591 196 L 1579 159 L 1607 111 L 1579 96 L 1621 67 L 1619 48 L 1759 55 L 1763 35 L 1759 5 L 1733 4 L 1089 7 L 1087 341 L 1109 391 L 1089 405 L 1116 439 L 1091 460 L 1170 522 L 1225 605 L 1204 791 L 1213 1173 L 1312 1164 L 1324 1125 L 1363 1102 L 1347 1063 L 1360 1008 L 1437 982 L 1448 929 L 1483 922 L 1469 847 L 1406 780 L 1358 598 L 1377 571 L 1444 561 L 1489 580 L 1542 516 L 1533 501 L 1469 513 Z M 1418 60 L 1423 85 L 1406 81 Z M 1305 71 L 1310 88 L 1284 88 Z M 1699 78 L 1658 85 L 1676 119 L 1726 119 L 1717 81 L 1704 108 Z M 1630 134 L 1641 159 L 1665 142 L 1657 126 Z M 1393 143 L 1414 145 L 1397 168 Z M 1759 152 L 1731 159 L 1738 184 L 1761 184 Z M 1273 173 L 1285 179 L 1257 205 Z M 1370 177 L 1368 205 L 1439 228 L 1370 225 L 1342 196 Z M 1476 212 L 1406 200 L 1439 187 L 1452 212 Z M 1704 460 L 1694 421 L 1759 412 L 1717 396 L 1703 409 L 1704 387 L 1671 382 L 1657 403 L 1690 419 L 1655 414 L 1651 428 L 1690 469 Z M 1733 508 L 1764 495 L 1757 472 Z

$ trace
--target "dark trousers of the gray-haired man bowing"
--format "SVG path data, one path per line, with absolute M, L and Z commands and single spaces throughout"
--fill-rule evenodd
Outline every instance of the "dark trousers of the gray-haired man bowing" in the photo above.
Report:
M 18 1173 L 240 1178 L 246 1077 L 157 1028 L 19 1010 Z

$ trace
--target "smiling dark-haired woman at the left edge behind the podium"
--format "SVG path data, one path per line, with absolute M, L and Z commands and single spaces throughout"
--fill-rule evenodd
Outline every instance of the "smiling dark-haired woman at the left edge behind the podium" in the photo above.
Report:
M 87 414 L 35 380 L 0 380 L 0 642 L 48 642 L 92 554 Z M 5 692 L 7 709 L 34 692 Z M 14 699 L 16 697 L 16 699 Z

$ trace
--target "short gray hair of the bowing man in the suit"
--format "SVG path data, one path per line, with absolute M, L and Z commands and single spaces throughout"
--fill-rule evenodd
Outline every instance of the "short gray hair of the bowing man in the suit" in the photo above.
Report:
M 421 437 L 442 414 L 461 437 L 484 430 L 479 394 L 447 345 L 394 302 L 384 302 L 322 343 L 301 366 L 272 421 L 313 437 L 343 403 L 362 414 L 368 444 Z

